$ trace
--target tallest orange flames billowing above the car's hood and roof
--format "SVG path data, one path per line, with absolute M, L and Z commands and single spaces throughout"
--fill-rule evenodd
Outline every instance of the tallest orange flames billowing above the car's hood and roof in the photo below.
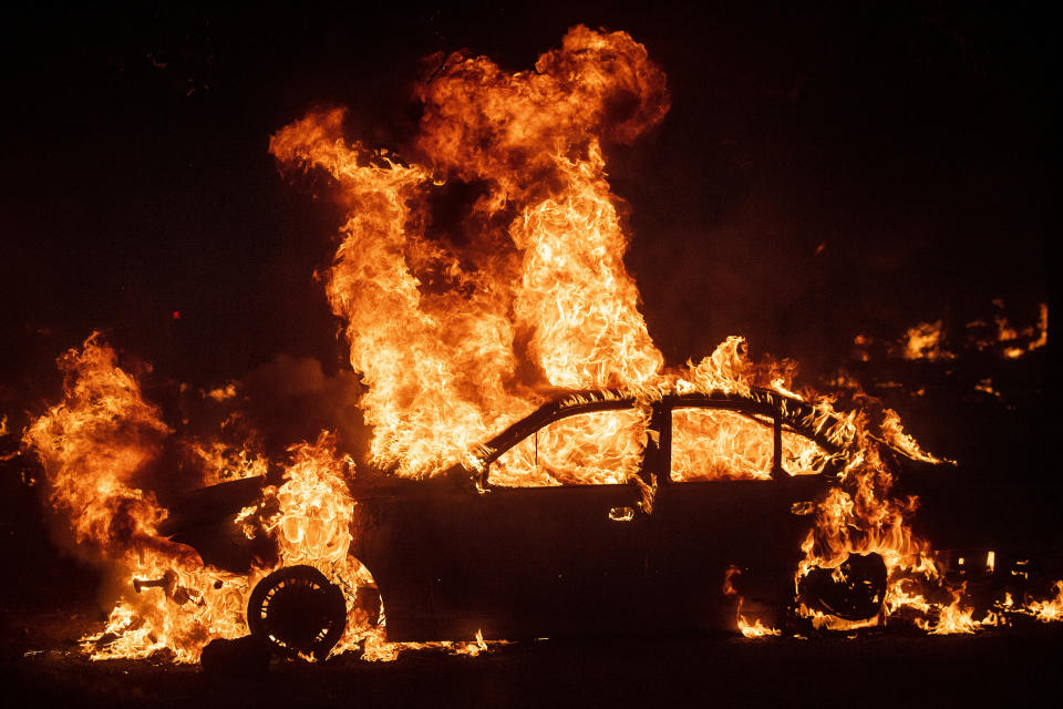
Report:
M 642 384 L 663 363 L 602 156 L 602 141 L 630 142 L 668 110 L 642 45 L 578 27 L 516 74 L 453 54 L 421 96 L 423 164 L 348 144 L 339 111 L 270 144 L 282 162 L 328 169 L 350 205 L 329 299 L 369 386 L 373 462 L 409 476 L 528 412 L 536 387 Z M 427 233 L 447 181 L 481 192 L 464 240 Z

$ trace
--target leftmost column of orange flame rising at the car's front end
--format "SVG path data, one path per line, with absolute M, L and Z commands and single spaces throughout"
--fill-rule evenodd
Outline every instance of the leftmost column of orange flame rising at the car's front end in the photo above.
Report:
M 69 523 L 75 551 L 118 583 L 94 657 L 146 657 L 169 650 L 194 661 L 216 637 L 246 633 L 248 579 L 204 565 L 196 552 L 158 532 L 167 513 L 144 479 L 172 434 L 114 350 L 93 335 L 60 366 L 63 400 L 27 430 L 44 464 L 53 510 Z M 133 582 L 149 582 L 135 590 Z

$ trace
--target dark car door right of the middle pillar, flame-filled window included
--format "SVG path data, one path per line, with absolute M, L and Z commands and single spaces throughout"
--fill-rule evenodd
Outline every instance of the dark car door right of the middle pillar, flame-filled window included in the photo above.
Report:
M 737 597 L 724 593 L 729 568 L 740 572 L 732 580 L 744 613 L 777 609 L 792 595 L 788 579 L 811 517 L 794 514 L 791 476 L 776 469 L 773 418 L 709 404 L 669 407 L 667 417 L 650 520 L 659 624 L 733 629 Z M 798 496 L 814 496 L 797 486 Z

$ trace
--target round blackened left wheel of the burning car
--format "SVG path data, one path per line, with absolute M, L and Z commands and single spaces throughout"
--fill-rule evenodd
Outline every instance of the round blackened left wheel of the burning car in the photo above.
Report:
M 278 655 L 323 660 L 343 635 L 347 603 L 339 586 L 314 567 L 287 566 L 251 590 L 247 625 Z

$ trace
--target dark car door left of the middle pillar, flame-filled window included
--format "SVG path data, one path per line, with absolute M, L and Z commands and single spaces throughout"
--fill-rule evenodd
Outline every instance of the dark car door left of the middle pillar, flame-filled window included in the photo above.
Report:
M 487 470 L 466 557 L 485 637 L 627 631 L 648 571 L 641 473 L 648 417 L 581 412 L 544 425 Z

